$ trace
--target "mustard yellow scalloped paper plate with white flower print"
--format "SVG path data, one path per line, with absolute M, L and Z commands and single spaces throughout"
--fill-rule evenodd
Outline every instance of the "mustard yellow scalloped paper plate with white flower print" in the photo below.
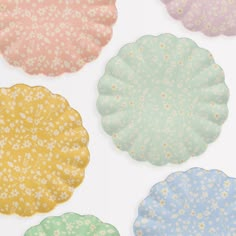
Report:
M 84 178 L 79 113 L 43 87 L 0 89 L 0 213 L 30 216 L 68 200 Z

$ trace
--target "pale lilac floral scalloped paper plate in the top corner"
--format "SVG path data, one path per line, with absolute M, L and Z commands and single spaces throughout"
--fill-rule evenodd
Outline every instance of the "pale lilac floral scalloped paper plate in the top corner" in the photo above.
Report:
M 235 0 L 161 0 L 169 14 L 192 31 L 208 36 L 236 35 Z

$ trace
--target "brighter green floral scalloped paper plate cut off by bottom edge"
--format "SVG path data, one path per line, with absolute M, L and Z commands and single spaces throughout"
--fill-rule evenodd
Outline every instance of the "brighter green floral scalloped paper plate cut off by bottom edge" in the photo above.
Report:
M 62 216 L 48 217 L 39 225 L 30 228 L 25 236 L 119 236 L 110 224 L 101 222 L 95 216 L 81 216 L 66 213 Z

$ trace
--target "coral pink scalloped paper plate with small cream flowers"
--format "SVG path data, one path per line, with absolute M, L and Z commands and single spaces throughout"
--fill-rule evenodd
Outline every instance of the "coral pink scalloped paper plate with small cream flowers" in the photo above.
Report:
M 116 0 L 0 3 L 0 52 L 30 74 L 57 76 L 94 60 L 112 36 Z

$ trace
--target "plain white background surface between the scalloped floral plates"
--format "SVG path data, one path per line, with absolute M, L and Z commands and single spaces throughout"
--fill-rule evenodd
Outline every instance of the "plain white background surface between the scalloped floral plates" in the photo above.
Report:
M 99 58 L 74 74 L 57 78 L 30 76 L 21 69 L 8 65 L 0 58 L 0 86 L 17 83 L 42 85 L 53 93 L 63 95 L 77 109 L 90 134 L 91 161 L 83 184 L 72 198 L 58 205 L 52 212 L 30 218 L 0 215 L 1 236 L 23 236 L 31 226 L 39 224 L 47 216 L 65 212 L 93 214 L 117 227 L 121 236 L 133 235 L 133 222 L 138 205 L 150 188 L 164 180 L 170 173 L 191 167 L 220 169 L 236 177 L 236 37 L 209 38 L 202 33 L 185 29 L 172 19 L 159 0 L 117 0 L 118 21 L 114 26 L 111 42 Z M 191 158 L 182 165 L 155 167 L 131 159 L 115 148 L 111 138 L 102 130 L 96 110 L 97 83 L 104 73 L 108 60 L 126 43 L 145 34 L 172 33 L 189 37 L 200 47 L 210 50 L 216 62 L 224 69 L 230 88 L 229 118 L 216 142 L 209 145 L 200 157 Z

